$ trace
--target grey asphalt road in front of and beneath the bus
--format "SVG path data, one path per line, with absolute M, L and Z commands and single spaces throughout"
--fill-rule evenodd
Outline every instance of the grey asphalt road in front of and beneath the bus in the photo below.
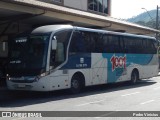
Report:
M 5 92 L 6 91 L 4 91 L 4 93 Z M 138 116 L 140 115 L 139 112 L 141 111 L 160 111 L 160 76 L 140 81 L 135 85 L 130 85 L 128 83 L 119 83 L 119 84 L 88 87 L 85 89 L 85 91 L 76 95 L 70 94 L 68 90 L 47 92 L 47 93 L 7 91 L 5 94 L 6 97 L 0 100 L 0 111 L 82 111 L 81 114 L 83 115 L 84 112 L 86 114 L 93 115 L 93 117 L 88 116 L 87 120 L 90 119 L 101 120 L 104 119 L 104 116 L 108 115 L 116 116 L 119 114 L 118 113 L 119 111 L 135 111 L 135 116 Z M 108 111 L 108 112 L 87 113 L 86 111 Z M 59 112 L 60 114 L 59 116 L 62 115 L 63 117 L 63 114 L 70 114 L 70 113 Z M 75 115 L 77 113 L 73 112 L 73 114 Z M 126 115 L 129 113 L 124 112 L 122 114 Z M 117 117 L 114 118 L 107 117 L 107 118 L 114 120 L 118 119 Z M 6 119 L 19 120 L 26 118 L 6 118 Z M 61 119 L 75 120 L 75 118 L 70 118 L 70 117 L 67 118 L 63 117 Z M 86 120 L 86 118 L 83 117 L 76 119 Z M 121 118 L 121 119 L 127 120 L 127 118 Z M 130 118 L 130 119 L 136 119 L 136 118 Z M 144 118 L 142 117 L 139 119 L 141 120 Z M 151 120 L 153 118 L 146 118 L 146 119 Z M 155 119 L 158 120 L 159 118 L 156 117 L 154 118 L 154 120 Z

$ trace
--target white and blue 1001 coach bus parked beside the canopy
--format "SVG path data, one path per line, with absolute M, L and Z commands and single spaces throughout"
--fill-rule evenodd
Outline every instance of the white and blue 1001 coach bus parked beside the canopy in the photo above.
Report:
M 46 25 L 13 40 L 10 90 L 80 92 L 86 86 L 158 75 L 156 39 L 144 35 Z

